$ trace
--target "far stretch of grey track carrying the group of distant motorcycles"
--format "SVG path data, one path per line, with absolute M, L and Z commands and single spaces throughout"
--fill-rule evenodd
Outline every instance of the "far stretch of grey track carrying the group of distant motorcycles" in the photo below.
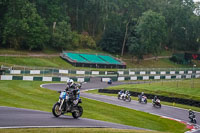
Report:
M 137 83 L 137 82 L 133 82 L 133 84 L 134 83 Z M 119 84 L 124 84 L 124 83 L 114 82 L 112 86 L 119 85 Z M 97 82 L 97 80 L 94 80 L 94 82 L 83 84 L 82 89 L 81 89 L 82 90 L 81 96 L 85 98 L 93 99 L 93 100 L 102 101 L 105 103 L 123 106 L 123 107 L 134 109 L 134 110 L 156 114 L 162 117 L 169 117 L 169 118 L 176 119 L 185 123 L 189 123 L 188 110 L 186 109 L 165 106 L 165 105 L 162 105 L 162 108 L 159 109 L 159 108 L 152 107 L 151 101 L 148 101 L 149 103 L 147 104 L 141 104 L 134 100 L 132 100 L 131 102 L 124 102 L 122 100 L 118 100 L 117 96 L 112 97 L 112 96 L 84 93 L 84 90 L 105 88 L 107 86 L 110 86 L 110 85 L 104 82 Z M 43 85 L 42 87 L 58 91 L 58 90 L 64 90 L 66 87 L 66 84 L 46 84 L 46 85 Z M 199 127 L 199 124 L 200 124 L 199 112 L 196 112 L 196 119 L 197 119 L 197 124 L 198 124 L 197 127 Z

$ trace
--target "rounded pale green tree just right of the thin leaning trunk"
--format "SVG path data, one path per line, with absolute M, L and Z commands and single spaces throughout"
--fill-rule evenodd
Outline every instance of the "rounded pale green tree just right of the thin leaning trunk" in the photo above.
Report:
M 145 45 L 147 52 L 157 57 L 166 37 L 165 18 L 151 10 L 144 12 L 140 17 L 136 31 L 140 35 L 140 42 Z

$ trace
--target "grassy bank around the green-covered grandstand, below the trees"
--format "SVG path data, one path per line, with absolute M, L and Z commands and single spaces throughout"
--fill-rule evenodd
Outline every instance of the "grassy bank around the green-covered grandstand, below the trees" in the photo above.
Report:
M 99 50 L 91 50 L 91 49 L 79 49 L 74 52 L 80 53 L 103 53 L 108 54 Z M 54 50 L 43 50 L 41 52 L 29 52 L 29 51 L 16 51 L 12 49 L 0 49 L 1 54 L 16 54 L 16 55 L 27 55 L 27 54 L 58 54 L 58 51 Z M 163 52 L 165 53 L 165 52 Z M 165 55 L 165 54 L 164 54 Z M 116 57 L 116 55 L 113 55 Z M 125 57 L 126 58 L 126 57 Z M 169 59 L 159 59 L 159 60 L 142 60 L 139 64 L 134 61 L 131 62 L 131 57 L 127 57 L 128 60 L 124 60 L 127 63 L 127 68 L 185 68 L 192 67 L 192 65 L 181 65 L 171 62 Z M 68 69 L 90 69 L 90 68 L 82 68 L 82 67 L 74 67 L 66 61 L 60 59 L 60 57 L 9 57 L 2 56 L 0 57 L 0 65 L 21 65 L 21 66 L 40 66 L 40 67 L 55 67 L 55 68 L 68 68 Z M 200 67 L 199 62 L 195 62 L 197 67 Z M 107 70 L 107 69 L 95 69 L 94 70 Z M 117 69 L 109 69 L 117 70 Z

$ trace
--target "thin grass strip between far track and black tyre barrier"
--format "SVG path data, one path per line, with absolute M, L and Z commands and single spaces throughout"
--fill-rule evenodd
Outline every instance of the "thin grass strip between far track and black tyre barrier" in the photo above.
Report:
M 117 94 L 99 93 L 98 90 L 89 90 L 89 91 L 87 91 L 87 93 L 117 97 Z M 131 96 L 131 99 L 137 101 L 138 97 Z M 151 102 L 151 100 L 152 99 L 148 99 L 148 102 Z M 200 112 L 200 108 L 194 107 L 194 106 L 188 106 L 188 105 L 177 104 L 177 103 L 170 103 L 170 102 L 163 102 L 163 101 L 161 101 L 161 104 L 168 105 L 168 106 L 173 106 L 173 107 L 179 107 L 179 108 L 183 108 L 183 109 L 192 109 L 194 111 Z

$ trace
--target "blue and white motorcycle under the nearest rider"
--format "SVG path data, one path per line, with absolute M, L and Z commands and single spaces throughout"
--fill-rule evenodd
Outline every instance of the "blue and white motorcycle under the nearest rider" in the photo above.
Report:
M 59 91 L 60 96 L 52 108 L 52 113 L 55 117 L 64 115 L 65 113 L 72 113 L 74 119 L 82 116 L 83 108 L 79 105 L 82 103 L 81 99 L 76 100 L 73 91 Z

